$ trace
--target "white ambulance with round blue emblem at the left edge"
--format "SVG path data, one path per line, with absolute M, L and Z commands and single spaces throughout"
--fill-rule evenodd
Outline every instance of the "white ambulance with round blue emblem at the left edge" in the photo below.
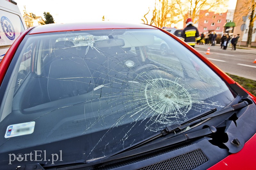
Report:
M 0 0 L 0 61 L 12 43 L 27 29 L 14 0 Z

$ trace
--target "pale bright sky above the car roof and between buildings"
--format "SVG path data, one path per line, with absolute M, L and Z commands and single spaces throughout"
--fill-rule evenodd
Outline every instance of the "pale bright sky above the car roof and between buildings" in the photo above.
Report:
M 22 12 L 26 11 L 44 18 L 44 12 L 50 12 L 55 23 L 73 23 L 84 21 L 142 23 L 141 19 L 152 9 L 155 0 L 15 0 Z M 236 0 L 227 0 L 229 9 L 235 9 Z M 22 12 L 23 13 L 23 12 Z M 147 15 L 149 16 L 149 14 Z M 150 17 L 148 17 L 150 18 Z

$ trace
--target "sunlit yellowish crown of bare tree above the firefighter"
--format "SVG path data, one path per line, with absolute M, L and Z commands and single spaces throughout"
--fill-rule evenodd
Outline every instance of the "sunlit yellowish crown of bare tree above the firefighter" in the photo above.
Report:
M 191 18 L 193 22 L 197 22 L 200 18 L 200 10 L 226 12 L 227 0 L 172 0 L 176 10 L 183 18 Z

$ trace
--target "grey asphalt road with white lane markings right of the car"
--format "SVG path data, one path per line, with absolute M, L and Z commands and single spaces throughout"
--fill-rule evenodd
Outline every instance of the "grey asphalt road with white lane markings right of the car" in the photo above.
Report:
M 210 54 L 206 54 L 208 47 Z M 256 81 L 256 50 L 236 49 L 230 47 L 223 50 L 220 46 L 196 45 L 196 50 L 211 60 L 216 66 L 226 73 L 238 75 Z

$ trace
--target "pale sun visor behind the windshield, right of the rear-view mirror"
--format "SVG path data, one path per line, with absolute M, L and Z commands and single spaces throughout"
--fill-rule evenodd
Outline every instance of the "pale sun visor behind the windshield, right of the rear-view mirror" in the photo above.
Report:
M 149 46 L 154 44 L 154 36 L 151 34 L 133 33 L 129 35 L 119 35 L 119 39 L 124 39 L 123 48 L 134 46 Z

